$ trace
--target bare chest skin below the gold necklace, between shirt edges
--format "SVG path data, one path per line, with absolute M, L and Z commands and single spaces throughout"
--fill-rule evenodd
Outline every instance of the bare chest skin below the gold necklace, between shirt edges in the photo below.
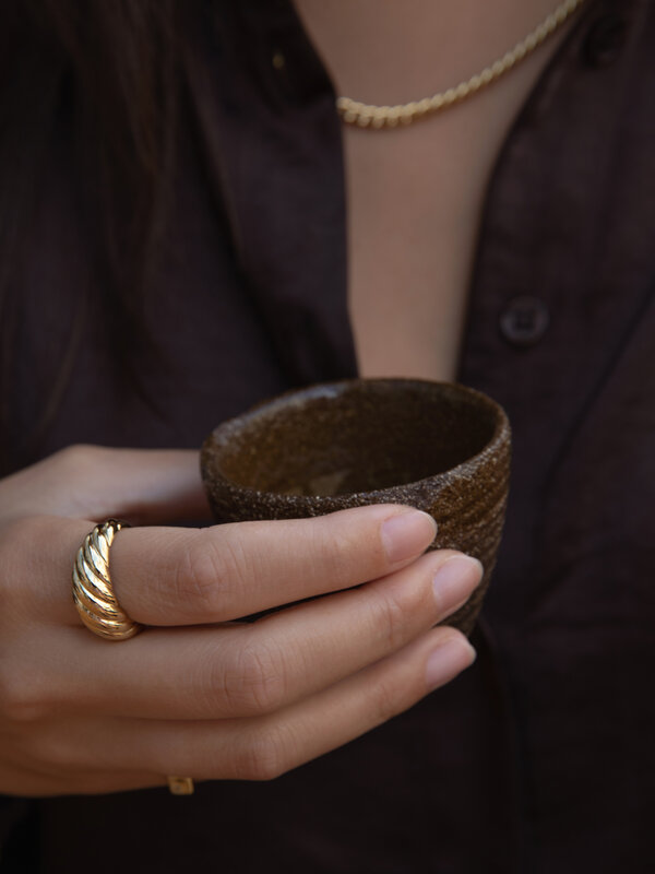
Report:
M 454 379 L 487 186 L 545 60 L 408 128 L 346 128 L 348 294 L 362 374 Z

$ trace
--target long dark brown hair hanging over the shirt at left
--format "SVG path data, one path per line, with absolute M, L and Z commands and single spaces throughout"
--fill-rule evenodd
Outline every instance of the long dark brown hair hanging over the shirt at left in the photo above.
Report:
M 62 107 L 72 119 L 75 161 L 84 168 L 76 194 L 91 227 L 94 293 L 112 298 L 119 358 L 129 363 L 132 342 L 147 342 L 140 309 L 175 157 L 181 54 L 176 34 L 183 7 L 177 0 L 0 3 L 1 398 L 13 354 L 12 287 Z M 34 439 L 66 379 L 63 361 Z M 0 432 L 5 413 L 0 410 Z

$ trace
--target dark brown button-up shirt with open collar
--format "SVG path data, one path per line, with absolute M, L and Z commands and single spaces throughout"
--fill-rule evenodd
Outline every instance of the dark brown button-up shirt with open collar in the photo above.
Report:
M 91 270 L 62 120 L 38 257 L 16 290 L 10 466 L 74 441 L 199 446 L 263 397 L 355 373 L 331 83 L 286 0 L 207 3 L 189 38 L 176 208 L 148 304 L 158 354 L 139 363 L 156 404 L 120 380 L 92 296 L 61 403 L 25 454 Z M 476 664 L 270 783 L 7 800 L 0 871 L 655 870 L 654 288 L 655 9 L 596 0 L 486 201 L 460 379 L 505 406 L 515 457 Z

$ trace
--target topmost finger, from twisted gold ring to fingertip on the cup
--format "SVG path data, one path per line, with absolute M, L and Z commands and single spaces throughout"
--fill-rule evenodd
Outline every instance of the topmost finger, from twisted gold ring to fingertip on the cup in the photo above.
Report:
M 427 513 L 390 505 L 200 530 L 127 529 L 111 547 L 110 572 L 135 622 L 228 622 L 383 577 L 420 555 L 436 530 Z

